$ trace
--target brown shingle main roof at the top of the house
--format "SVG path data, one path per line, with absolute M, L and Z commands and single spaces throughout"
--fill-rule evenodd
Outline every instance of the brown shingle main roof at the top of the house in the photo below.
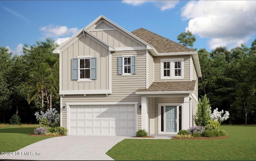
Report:
M 156 33 L 148 31 L 144 28 L 139 28 L 131 32 L 146 43 L 152 45 L 158 53 L 175 53 L 194 51 L 186 46 L 180 45 L 170 39 L 162 37 Z

